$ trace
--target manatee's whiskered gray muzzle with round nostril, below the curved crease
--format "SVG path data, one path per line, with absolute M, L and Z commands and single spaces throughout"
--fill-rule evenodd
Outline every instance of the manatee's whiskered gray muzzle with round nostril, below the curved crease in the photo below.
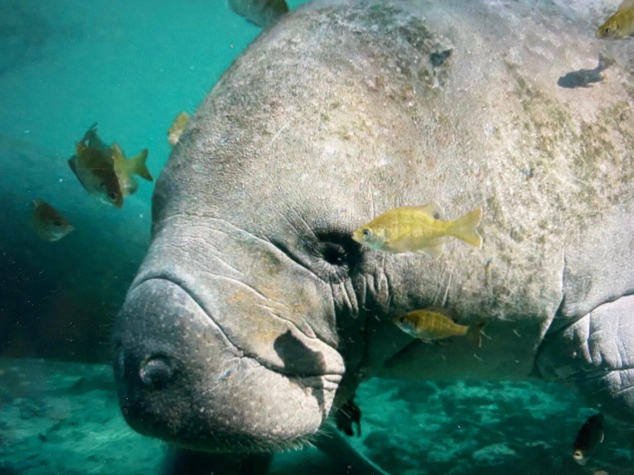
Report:
M 115 379 L 128 424 L 211 452 L 293 447 L 317 433 L 340 376 L 266 367 L 207 312 L 168 279 L 150 278 L 129 291 L 114 334 Z M 272 346 L 282 357 L 294 353 L 295 365 L 325 364 L 290 331 Z

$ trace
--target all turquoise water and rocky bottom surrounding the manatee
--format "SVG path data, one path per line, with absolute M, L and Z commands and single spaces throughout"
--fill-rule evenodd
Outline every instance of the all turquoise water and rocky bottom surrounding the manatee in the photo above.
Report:
M 97 122 L 128 155 L 150 149 L 157 177 L 172 119 L 259 32 L 221 0 L 0 2 L 0 475 L 160 472 L 165 446 L 127 427 L 108 365 L 153 186 L 141 182 L 123 209 L 103 206 L 67 160 Z M 41 241 L 37 198 L 75 231 Z M 363 433 L 351 443 L 393 474 L 634 473 L 616 436 L 592 466 L 574 464 L 573 435 L 595 408 L 553 384 L 374 380 L 357 402 Z M 325 464 L 311 449 L 280 455 L 272 471 Z

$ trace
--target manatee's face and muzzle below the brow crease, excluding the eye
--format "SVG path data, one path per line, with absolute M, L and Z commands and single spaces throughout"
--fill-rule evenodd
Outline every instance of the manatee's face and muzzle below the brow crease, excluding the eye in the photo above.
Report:
M 195 450 L 275 450 L 314 436 L 344 373 L 327 284 L 230 220 L 165 221 L 115 332 L 127 422 Z

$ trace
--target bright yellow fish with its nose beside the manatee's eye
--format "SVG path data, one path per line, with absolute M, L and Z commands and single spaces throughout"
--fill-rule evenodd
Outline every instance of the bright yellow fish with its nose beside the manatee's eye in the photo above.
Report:
M 480 208 L 455 221 L 443 221 L 441 216 L 442 211 L 434 201 L 424 206 L 395 208 L 356 229 L 353 239 L 377 251 L 422 251 L 432 257 L 441 254 L 447 236 L 482 247 L 482 238 L 475 230 L 482 217 Z

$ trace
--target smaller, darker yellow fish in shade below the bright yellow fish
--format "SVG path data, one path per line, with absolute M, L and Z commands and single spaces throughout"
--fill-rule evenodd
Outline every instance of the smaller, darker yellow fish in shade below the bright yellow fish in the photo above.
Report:
M 436 307 L 399 315 L 394 317 L 394 323 L 408 335 L 428 343 L 450 336 L 466 336 L 477 346 L 481 344 L 480 331 L 484 327 L 484 323 L 471 326 L 459 325 L 449 317 L 448 310 Z

